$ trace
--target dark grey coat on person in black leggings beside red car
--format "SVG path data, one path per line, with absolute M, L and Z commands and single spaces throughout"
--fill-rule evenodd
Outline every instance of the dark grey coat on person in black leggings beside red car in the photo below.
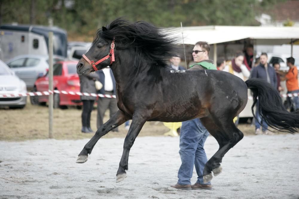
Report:
M 87 92 L 87 93 L 97 93 L 97 90 L 95 89 L 94 81 L 99 81 L 99 76 L 96 73 L 89 73 L 89 75 L 79 75 L 80 78 L 80 92 Z M 81 100 L 96 100 L 97 97 L 95 96 L 86 96 L 81 95 Z

